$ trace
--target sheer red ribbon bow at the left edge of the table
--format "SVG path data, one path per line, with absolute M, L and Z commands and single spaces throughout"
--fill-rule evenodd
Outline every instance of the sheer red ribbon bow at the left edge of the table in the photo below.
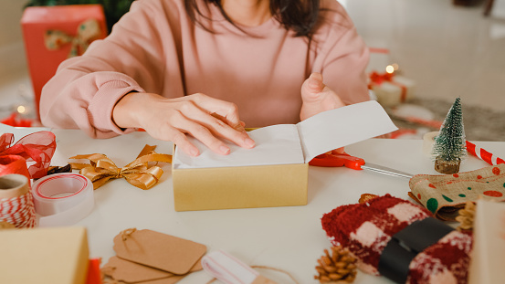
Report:
M 28 167 L 28 173 L 31 178 L 40 178 L 47 174 L 47 168 L 56 150 L 55 139 L 53 132 L 38 131 L 26 135 L 13 145 L 14 134 L 5 133 L 0 136 L 0 157 L 5 159 L 7 155 L 16 155 L 24 158 L 26 163 L 34 163 Z

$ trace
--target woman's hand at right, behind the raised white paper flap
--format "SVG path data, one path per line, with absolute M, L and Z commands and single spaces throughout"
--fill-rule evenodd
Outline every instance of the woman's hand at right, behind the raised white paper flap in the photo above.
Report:
M 322 82 L 321 73 L 310 74 L 301 85 L 300 120 L 304 121 L 322 111 L 345 106 L 341 98 Z

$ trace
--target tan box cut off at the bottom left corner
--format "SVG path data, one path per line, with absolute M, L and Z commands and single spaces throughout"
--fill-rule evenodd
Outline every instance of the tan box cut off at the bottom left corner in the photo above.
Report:
M 88 258 L 84 227 L 0 231 L 0 283 L 85 283 Z

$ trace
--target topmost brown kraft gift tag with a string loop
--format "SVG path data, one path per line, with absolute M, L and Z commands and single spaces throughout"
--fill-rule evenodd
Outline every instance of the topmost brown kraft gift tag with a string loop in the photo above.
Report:
M 202 244 L 152 230 L 132 229 L 114 237 L 114 251 L 119 258 L 176 275 L 188 273 L 206 249 Z

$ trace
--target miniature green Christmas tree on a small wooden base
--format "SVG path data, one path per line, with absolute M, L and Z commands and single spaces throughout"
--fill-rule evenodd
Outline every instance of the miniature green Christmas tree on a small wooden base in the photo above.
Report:
M 436 156 L 435 170 L 438 173 L 458 173 L 461 158 L 467 154 L 460 98 L 456 99 L 447 113 L 446 119 L 435 138 L 433 153 Z

